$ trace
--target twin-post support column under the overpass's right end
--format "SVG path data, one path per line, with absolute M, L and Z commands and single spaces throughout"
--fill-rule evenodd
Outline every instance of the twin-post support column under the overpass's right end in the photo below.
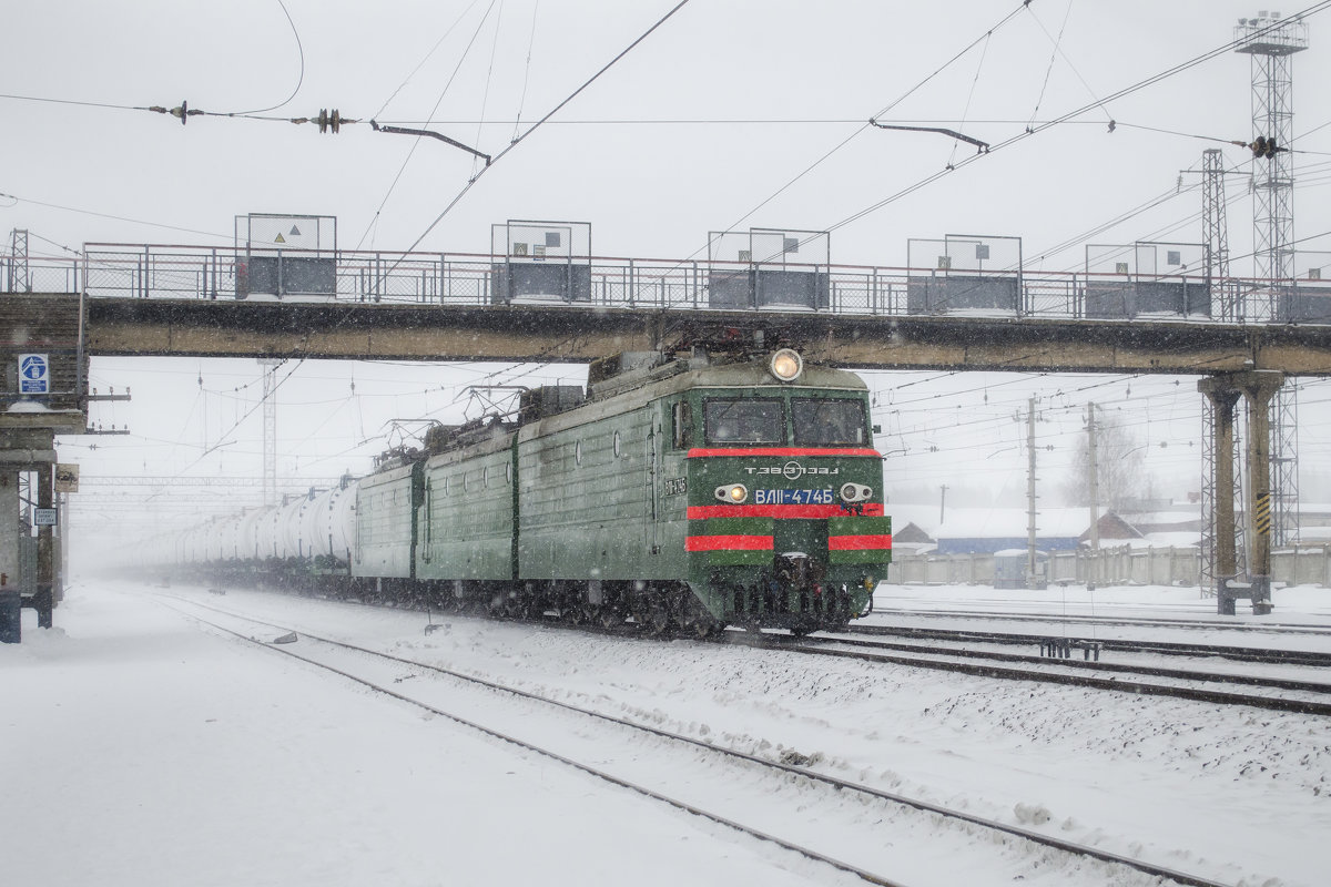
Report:
M 1209 376 L 1197 384 L 1215 416 L 1215 600 L 1218 612 L 1234 614 L 1234 598 L 1251 597 L 1252 612 L 1271 612 L 1271 398 L 1284 384 L 1284 374 L 1250 370 Z M 1247 400 L 1247 488 L 1244 519 L 1248 523 L 1248 581 L 1230 585 L 1236 572 L 1234 521 L 1234 406 Z

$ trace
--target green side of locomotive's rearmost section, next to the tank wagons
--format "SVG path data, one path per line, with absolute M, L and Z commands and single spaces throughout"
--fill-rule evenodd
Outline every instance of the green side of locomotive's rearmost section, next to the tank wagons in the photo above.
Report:
M 361 480 L 355 491 L 353 576 L 413 578 L 422 488 L 419 461 Z

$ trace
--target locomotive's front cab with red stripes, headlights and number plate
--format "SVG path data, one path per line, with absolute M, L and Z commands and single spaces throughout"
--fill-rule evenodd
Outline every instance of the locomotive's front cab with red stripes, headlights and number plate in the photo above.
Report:
M 865 386 L 793 351 L 755 370 L 703 371 L 673 410 L 701 418 L 675 428 L 688 442 L 688 584 L 723 622 L 843 628 L 870 609 L 892 548 Z

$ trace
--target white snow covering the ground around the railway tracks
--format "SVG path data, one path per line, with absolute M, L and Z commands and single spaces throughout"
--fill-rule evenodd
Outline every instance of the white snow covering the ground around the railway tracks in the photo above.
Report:
M 222 637 L 154 590 L 83 581 L 56 629 L 28 612 L 24 644 L 0 648 L 0 882 L 858 883 Z M 422 613 L 174 592 L 1226 883 L 1331 870 L 1331 718 L 458 617 L 425 634 Z M 1185 593 L 1095 597 L 1151 610 Z M 878 602 L 992 594 L 882 586 Z M 1276 617 L 1327 624 L 1328 602 L 1280 589 Z

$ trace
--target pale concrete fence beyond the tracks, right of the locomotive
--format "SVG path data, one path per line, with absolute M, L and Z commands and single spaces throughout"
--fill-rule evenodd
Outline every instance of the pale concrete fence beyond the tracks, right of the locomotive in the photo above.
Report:
M 1201 577 L 1201 553 L 1197 548 L 1102 548 L 1098 556 L 1089 551 L 1050 552 L 1050 584 L 1097 585 L 1197 585 Z M 1299 544 L 1271 553 L 1271 578 L 1284 585 L 1331 586 L 1331 543 Z M 888 568 L 894 585 L 993 585 L 994 556 L 908 555 L 897 552 Z

